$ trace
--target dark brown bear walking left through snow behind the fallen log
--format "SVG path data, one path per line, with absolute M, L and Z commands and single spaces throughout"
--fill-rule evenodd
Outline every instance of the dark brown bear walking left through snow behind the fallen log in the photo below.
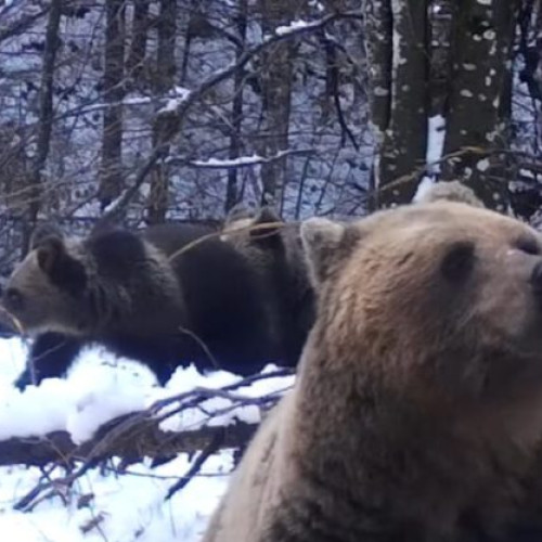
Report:
M 38 232 L 3 306 L 35 337 L 20 388 L 64 375 L 90 343 L 146 364 L 163 385 L 191 361 L 238 375 L 297 362 L 278 332 L 270 285 L 205 227 L 107 230 L 82 241 Z

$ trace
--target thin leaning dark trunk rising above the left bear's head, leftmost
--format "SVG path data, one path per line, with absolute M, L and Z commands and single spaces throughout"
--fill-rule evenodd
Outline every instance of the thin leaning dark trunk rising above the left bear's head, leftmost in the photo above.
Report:
M 42 171 L 51 146 L 53 128 L 53 81 L 56 52 L 60 46 L 59 27 L 62 16 L 62 0 L 53 0 L 49 11 L 43 50 L 43 68 L 39 92 L 39 122 L 36 157 L 30 177 L 28 216 L 23 234 L 23 255 L 28 251 L 31 232 L 36 225 L 41 205 Z

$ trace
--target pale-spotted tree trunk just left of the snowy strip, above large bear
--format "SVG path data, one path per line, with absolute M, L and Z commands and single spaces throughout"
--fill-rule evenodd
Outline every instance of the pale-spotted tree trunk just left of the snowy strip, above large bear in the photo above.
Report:
M 365 9 L 376 204 L 389 207 L 412 198 L 426 157 L 427 0 L 369 0 Z

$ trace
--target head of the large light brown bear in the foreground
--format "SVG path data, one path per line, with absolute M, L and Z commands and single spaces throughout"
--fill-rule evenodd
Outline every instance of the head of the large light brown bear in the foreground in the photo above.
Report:
M 542 238 L 534 230 L 436 202 L 350 225 L 311 219 L 301 235 L 330 359 L 347 352 L 388 386 L 451 398 L 542 386 Z

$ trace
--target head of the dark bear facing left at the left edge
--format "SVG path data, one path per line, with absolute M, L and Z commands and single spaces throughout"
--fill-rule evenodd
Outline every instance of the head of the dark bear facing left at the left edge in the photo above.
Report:
M 24 333 L 77 334 L 85 325 L 87 271 L 72 250 L 56 234 L 36 238 L 8 280 L 2 306 Z

